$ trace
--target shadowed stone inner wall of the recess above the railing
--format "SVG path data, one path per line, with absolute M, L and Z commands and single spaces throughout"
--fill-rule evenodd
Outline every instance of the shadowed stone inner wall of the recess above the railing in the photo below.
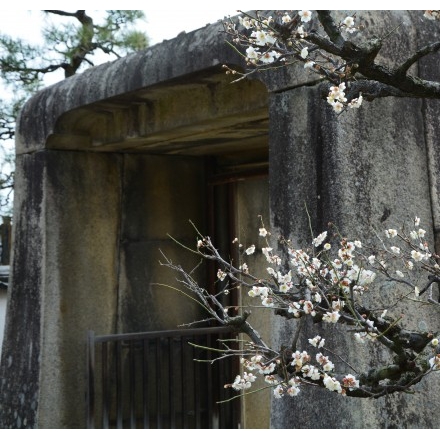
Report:
M 195 303 L 155 283 L 176 285 L 175 274 L 159 264 L 161 252 L 188 271 L 199 263 L 168 234 L 193 247 L 189 220 L 205 228 L 203 160 L 124 155 L 123 175 L 118 331 L 170 330 L 201 319 Z

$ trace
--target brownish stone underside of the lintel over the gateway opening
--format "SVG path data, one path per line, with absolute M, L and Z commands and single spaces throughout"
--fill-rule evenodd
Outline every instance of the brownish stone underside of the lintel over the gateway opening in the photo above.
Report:
M 267 155 L 268 93 L 207 72 L 63 115 L 47 148 L 190 156 Z M 262 153 L 265 151 L 266 153 Z

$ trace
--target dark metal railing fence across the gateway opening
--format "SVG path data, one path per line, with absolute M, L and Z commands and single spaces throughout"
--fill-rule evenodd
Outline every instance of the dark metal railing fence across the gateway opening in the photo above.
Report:
M 227 328 L 88 335 L 88 428 L 238 428 L 237 360 L 212 360 Z M 190 345 L 192 343 L 194 345 Z

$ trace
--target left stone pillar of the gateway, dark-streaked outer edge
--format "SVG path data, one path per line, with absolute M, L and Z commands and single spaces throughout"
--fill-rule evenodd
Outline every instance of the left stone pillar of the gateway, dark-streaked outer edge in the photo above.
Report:
M 116 329 L 119 185 L 117 155 L 18 156 L 4 428 L 84 427 L 86 332 Z

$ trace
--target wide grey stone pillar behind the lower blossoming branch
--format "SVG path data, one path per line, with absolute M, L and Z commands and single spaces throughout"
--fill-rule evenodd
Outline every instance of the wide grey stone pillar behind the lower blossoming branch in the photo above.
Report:
M 310 246 L 307 206 L 315 235 L 327 230 L 331 221 L 342 234 L 371 243 L 372 228 L 399 227 L 418 215 L 432 240 L 422 102 L 386 98 L 336 115 L 319 96 L 318 88 L 304 87 L 271 97 L 270 197 L 275 230 L 297 246 Z M 409 307 L 403 324 L 436 330 L 438 318 L 436 310 L 426 309 L 421 316 Z M 294 329 L 295 323 L 277 317 L 274 343 L 289 343 Z M 377 347 L 356 358 L 359 346 L 345 330 L 319 325 L 307 331 L 323 335 L 336 353 L 350 360 L 354 355 L 363 369 L 383 359 Z M 301 344 L 298 349 L 308 349 L 307 338 Z M 414 395 L 377 400 L 343 398 L 304 386 L 298 398 L 273 400 L 272 427 L 435 428 L 437 376 L 417 385 Z

